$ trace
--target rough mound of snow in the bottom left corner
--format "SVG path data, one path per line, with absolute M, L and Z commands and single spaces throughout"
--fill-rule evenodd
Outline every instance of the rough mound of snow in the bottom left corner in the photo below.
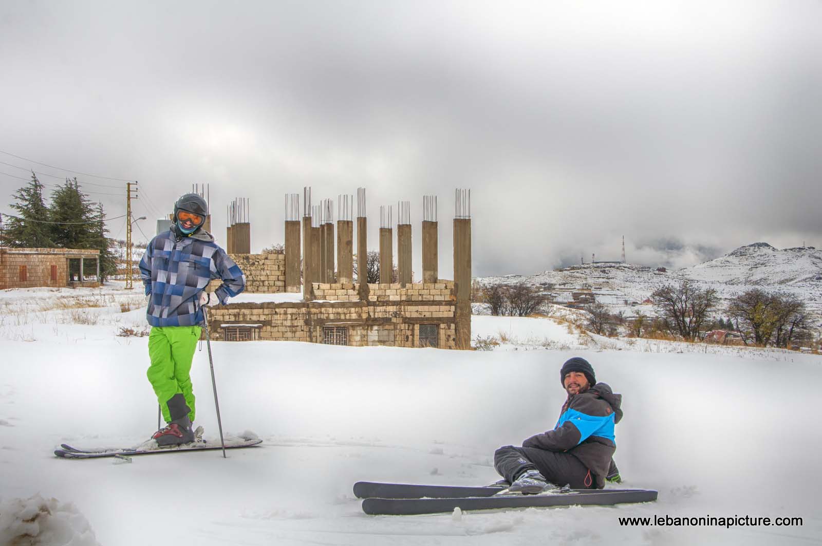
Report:
M 0 544 L 99 546 L 91 525 L 71 502 L 39 495 L 0 502 Z

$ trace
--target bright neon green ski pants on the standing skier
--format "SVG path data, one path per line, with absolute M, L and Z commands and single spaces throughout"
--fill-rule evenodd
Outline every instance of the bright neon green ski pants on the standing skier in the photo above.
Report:
M 182 393 L 186 399 L 188 417 L 194 421 L 194 391 L 192 378 L 192 359 L 200 340 L 200 326 L 153 326 L 149 335 L 149 357 L 151 365 L 148 376 L 154 387 L 159 407 L 163 411 L 166 423 L 172 420 L 169 412 L 169 399 Z

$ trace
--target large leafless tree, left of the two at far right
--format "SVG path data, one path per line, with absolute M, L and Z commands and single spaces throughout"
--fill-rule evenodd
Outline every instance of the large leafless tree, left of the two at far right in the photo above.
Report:
M 668 285 L 654 290 L 651 300 L 674 333 L 693 341 L 700 337 L 703 323 L 717 306 L 719 298 L 715 289 L 700 289 L 683 280 L 679 286 Z

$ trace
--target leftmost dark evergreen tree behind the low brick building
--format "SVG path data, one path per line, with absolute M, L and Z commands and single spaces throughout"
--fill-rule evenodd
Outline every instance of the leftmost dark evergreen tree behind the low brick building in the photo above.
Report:
M 43 201 L 43 184 L 34 171 L 31 173 L 31 182 L 17 190 L 13 197 L 17 203 L 10 207 L 17 214 L 16 217 L 7 217 L 0 244 L 14 248 L 53 248 L 51 224 L 44 223 L 50 220 L 50 215 Z

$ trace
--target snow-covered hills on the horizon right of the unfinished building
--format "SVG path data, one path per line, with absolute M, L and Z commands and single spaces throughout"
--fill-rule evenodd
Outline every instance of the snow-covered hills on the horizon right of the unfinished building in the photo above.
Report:
M 570 298 L 572 289 L 591 289 L 598 302 L 630 314 L 653 290 L 680 280 L 691 280 L 731 298 L 751 287 L 795 294 L 811 312 L 822 317 L 822 251 L 813 247 L 774 248 L 753 243 L 678 271 L 636 266 L 615 261 L 593 262 L 543 271 L 536 275 L 479 277 L 481 285 L 515 284 L 542 286 L 558 299 Z

